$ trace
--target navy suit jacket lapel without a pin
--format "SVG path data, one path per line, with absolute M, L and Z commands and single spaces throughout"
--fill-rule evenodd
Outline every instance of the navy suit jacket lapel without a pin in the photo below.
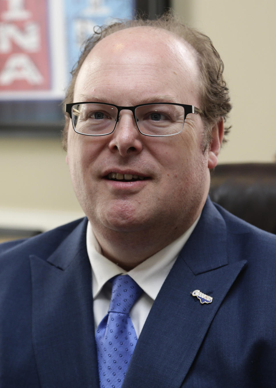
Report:
M 97 387 L 86 222 L 47 261 L 30 256 L 33 346 L 43 387 Z

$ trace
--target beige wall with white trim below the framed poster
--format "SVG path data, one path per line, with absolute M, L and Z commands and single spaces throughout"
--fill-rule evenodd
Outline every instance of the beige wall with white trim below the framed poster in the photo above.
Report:
M 0 227 L 47 230 L 83 213 L 59 139 L 0 138 Z

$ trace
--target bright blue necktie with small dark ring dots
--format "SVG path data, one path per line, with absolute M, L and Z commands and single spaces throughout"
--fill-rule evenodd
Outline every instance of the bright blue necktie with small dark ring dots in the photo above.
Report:
M 100 388 L 120 388 L 137 343 L 129 311 L 142 293 L 128 275 L 113 279 L 108 314 L 97 327 L 95 338 Z

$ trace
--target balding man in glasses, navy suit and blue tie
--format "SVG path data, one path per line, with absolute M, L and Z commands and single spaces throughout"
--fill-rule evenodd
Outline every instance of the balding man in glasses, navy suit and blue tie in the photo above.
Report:
M 1 388 L 275 385 L 276 238 L 208 199 L 222 69 L 170 16 L 89 40 L 64 129 L 88 223 L 3 244 Z

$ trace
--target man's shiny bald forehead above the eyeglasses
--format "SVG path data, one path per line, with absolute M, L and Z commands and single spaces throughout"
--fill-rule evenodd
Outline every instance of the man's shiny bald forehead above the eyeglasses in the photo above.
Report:
M 137 89 L 160 94 L 163 89 L 161 94 L 177 99 L 183 89 L 197 102 L 181 102 L 198 106 L 199 79 L 197 53 L 188 42 L 161 28 L 133 27 L 95 45 L 76 79 L 75 96 L 95 95 L 101 87 L 108 93 L 116 84 L 125 94 Z

